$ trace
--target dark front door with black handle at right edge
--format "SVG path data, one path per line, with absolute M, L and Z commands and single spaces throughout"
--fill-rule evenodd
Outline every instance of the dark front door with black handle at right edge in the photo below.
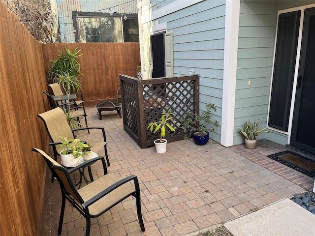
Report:
M 290 145 L 315 154 L 315 8 L 304 13 Z

